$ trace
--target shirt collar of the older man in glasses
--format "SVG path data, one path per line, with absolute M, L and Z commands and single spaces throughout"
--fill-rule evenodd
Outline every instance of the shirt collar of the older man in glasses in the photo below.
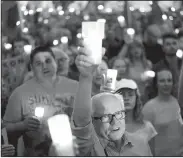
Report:
M 129 139 L 128 139 L 128 133 L 127 132 L 124 133 L 124 135 L 122 136 L 121 139 L 123 139 L 123 141 L 124 141 L 123 146 L 126 146 L 126 145 L 133 146 L 132 142 L 129 141 Z M 114 143 L 110 140 L 107 140 L 107 139 L 102 138 L 102 137 L 99 137 L 99 140 L 100 140 L 100 143 L 101 143 L 101 145 L 103 146 L 104 149 L 107 146 L 114 146 Z

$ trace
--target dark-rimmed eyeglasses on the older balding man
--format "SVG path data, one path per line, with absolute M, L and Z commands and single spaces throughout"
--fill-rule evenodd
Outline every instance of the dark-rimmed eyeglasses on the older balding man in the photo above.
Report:
M 93 117 L 94 120 L 100 120 L 102 123 L 111 123 L 113 120 L 113 117 L 115 117 L 117 120 L 122 120 L 125 118 L 125 111 L 117 111 L 114 114 L 106 114 L 102 117 Z

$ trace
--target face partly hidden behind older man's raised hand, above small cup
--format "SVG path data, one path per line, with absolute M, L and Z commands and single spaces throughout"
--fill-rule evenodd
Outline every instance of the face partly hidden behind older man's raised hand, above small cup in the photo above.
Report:
M 107 69 L 108 69 L 107 64 L 104 61 L 102 61 L 102 63 L 98 66 L 93 76 L 93 83 L 95 85 L 101 86 L 104 80 L 103 74 L 106 74 Z

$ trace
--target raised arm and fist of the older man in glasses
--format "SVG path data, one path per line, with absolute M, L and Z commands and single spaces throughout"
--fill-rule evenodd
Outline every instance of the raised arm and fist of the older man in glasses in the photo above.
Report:
M 90 156 L 93 148 L 92 137 L 92 78 L 95 66 L 89 53 L 81 48 L 81 55 L 76 58 L 76 65 L 80 72 L 79 87 L 75 98 L 74 110 L 72 114 L 72 131 L 77 137 L 80 156 Z

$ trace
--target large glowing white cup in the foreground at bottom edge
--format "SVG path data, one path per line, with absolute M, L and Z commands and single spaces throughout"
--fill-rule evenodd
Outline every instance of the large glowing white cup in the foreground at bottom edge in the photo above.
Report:
M 48 119 L 48 126 L 57 156 L 75 156 L 69 117 L 55 115 Z

